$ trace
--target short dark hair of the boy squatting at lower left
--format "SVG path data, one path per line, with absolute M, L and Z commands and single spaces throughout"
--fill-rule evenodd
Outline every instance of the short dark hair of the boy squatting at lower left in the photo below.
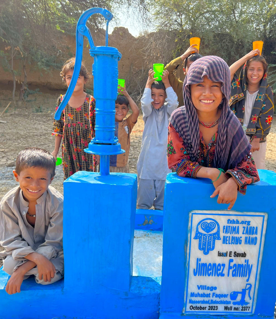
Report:
M 54 156 L 42 148 L 29 147 L 21 151 L 16 159 L 15 171 L 17 174 L 26 167 L 41 167 L 51 173 L 51 178 L 55 176 L 56 160 Z

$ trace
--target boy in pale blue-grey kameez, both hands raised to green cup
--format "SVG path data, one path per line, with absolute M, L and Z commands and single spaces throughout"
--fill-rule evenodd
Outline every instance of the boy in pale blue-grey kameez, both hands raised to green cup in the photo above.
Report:
M 163 71 L 159 82 L 153 75 L 154 71 L 149 70 L 141 99 L 145 127 L 137 163 L 137 197 L 138 208 L 149 209 L 153 205 L 162 210 L 166 176 L 171 173 L 167 161 L 168 123 L 178 102 L 168 79 L 169 72 Z

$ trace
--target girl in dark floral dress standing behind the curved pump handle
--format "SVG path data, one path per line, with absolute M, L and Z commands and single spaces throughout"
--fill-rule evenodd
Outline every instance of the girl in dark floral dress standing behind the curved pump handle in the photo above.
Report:
M 60 72 L 63 83 L 69 86 L 75 58 L 71 58 L 63 65 Z M 94 155 L 84 152 L 94 137 L 95 127 L 95 99 L 86 94 L 85 84 L 90 80 L 90 74 L 82 64 L 78 81 L 72 96 L 63 110 L 60 120 L 54 120 L 52 135 L 55 135 L 55 149 L 52 152 L 55 159 L 62 143 L 64 179 L 77 171 L 95 171 L 97 159 Z M 64 95 L 56 102 L 56 110 Z

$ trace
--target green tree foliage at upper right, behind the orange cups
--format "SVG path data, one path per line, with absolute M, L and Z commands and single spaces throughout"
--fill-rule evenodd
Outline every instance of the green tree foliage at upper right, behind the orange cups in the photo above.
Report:
M 189 38 L 201 38 L 200 53 L 218 55 L 232 64 L 252 49 L 252 41 L 264 41 L 264 54 L 276 63 L 276 4 L 264 0 L 159 0 L 151 3 L 158 29 L 176 32 L 179 56 Z

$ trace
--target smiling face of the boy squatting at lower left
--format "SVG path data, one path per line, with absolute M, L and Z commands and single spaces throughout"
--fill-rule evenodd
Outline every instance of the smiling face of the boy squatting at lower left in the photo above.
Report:
M 13 174 L 27 202 L 34 202 L 41 197 L 54 179 L 54 177 L 51 178 L 51 172 L 48 169 L 41 167 L 26 167 L 20 174 L 16 171 L 13 171 Z

